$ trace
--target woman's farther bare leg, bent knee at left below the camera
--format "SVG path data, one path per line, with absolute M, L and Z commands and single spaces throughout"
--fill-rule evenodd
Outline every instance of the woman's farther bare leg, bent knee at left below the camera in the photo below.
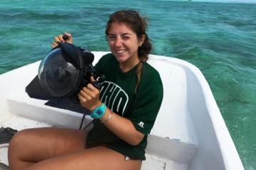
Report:
M 11 169 L 26 169 L 42 160 L 85 149 L 85 130 L 36 128 L 12 137 L 8 157 Z

